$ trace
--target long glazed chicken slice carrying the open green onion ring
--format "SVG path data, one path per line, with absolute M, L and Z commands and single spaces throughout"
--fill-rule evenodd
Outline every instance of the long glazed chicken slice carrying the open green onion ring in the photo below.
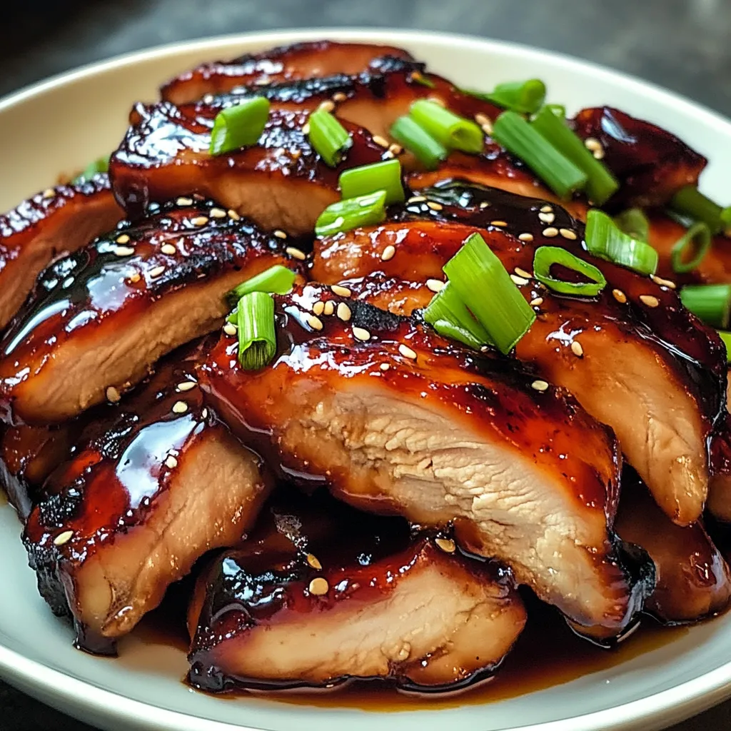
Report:
M 616 431 L 670 518 L 681 525 L 697 520 L 708 491 L 706 444 L 724 403 L 725 355 L 716 333 L 662 281 L 602 260 L 592 260 L 608 282 L 598 298 L 556 295 L 534 280 L 535 249 L 556 244 L 556 236 L 545 235 L 548 224 L 564 232 L 561 246 L 584 256 L 583 226 L 558 206 L 458 184 L 425 195 L 430 201 L 407 206 L 403 224 L 318 241 L 314 279 L 344 283 L 376 306 L 410 314 L 428 304 L 433 291 L 427 282 L 444 279 L 444 263 L 477 230 L 444 221 L 484 227 L 488 245 L 510 273 L 518 272 L 518 287 L 539 314 L 516 346 L 518 358 L 569 389 Z M 455 205 L 460 200 L 464 205 Z M 427 216 L 436 220 L 423 220 Z M 395 255 L 384 261 L 387 246 Z

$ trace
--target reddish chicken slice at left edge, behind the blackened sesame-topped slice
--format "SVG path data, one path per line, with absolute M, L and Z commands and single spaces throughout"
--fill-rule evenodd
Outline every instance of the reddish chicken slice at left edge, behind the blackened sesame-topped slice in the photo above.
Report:
M 107 175 L 49 188 L 0 216 L 0 330 L 53 257 L 76 251 L 121 217 Z

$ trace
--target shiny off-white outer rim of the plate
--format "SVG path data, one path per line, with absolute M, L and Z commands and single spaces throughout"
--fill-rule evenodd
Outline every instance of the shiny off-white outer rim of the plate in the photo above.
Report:
M 534 48 L 521 43 L 469 34 L 413 29 L 387 30 L 357 26 L 250 31 L 172 42 L 135 50 L 103 61 L 85 64 L 7 94 L 0 98 L 0 114 L 48 91 L 114 69 L 134 67 L 143 61 L 171 58 L 182 53 L 198 51 L 203 53 L 210 50 L 213 53 L 222 46 L 238 42 L 242 45 L 251 44 L 252 42 L 261 42 L 262 45 L 283 45 L 322 37 L 341 41 L 379 42 L 388 45 L 398 45 L 409 41 L 430 42 L 433 45 L 442 47 L 453 48 L 458 45 L 468 51 L 471 48 L 482 48 L 483 50 L 488 49 L 501 53 L 503 56 L 512 55 L 528 58 L 536 64 L 548 58 L 556 66 L 562 66 L 569 70 L 582 70 L 583 72 L 588 69 L 596 77 L 613 83 L 620 83 L 629 88 L 629 91 L 649 94 L 656 101 L 665 105 L 679 106 L 682 108 L 683 113 L 694 116 L 702 124 L 712 126 L 721 134 L 731 138 L 731 120 L 716 112 L 716 110 L 694 102 L 683 96 L 683 94 L 670 91 L 651 81 L 596 64 L 593 61 L 585 61 L 566 53 Z M 114 721 L 133 719 L 136 724 L 144 724 L 150 729 L 188 731 L 192 727 L 192 722 L 194 722 L 198 728 L 202 727 L 205 731 L 262 731 L 257 727 L 240 726 L 226 721 L 216 721 L 201 716 L 192 716 L 188 713 L 180 713 L 179 711 L 170 711 L 166 708 L 99 688 L 8 648 L 2 643 L 1 636 L 0 676 L 12 686 L 22 686 L 23 692 L 32 693 L 32 690 L 26 689 L 39 687 L 45 689 L 44 697 L 49 699 L 48 702 L 58 701 L 59 705 L 63 705 L 64 712 L 71 715 L 75 715 L 76 709 L 86 708 L 91 710 L 97 718 L 106 717 Z M 638 700 L 567 719 L 512 727 L 509 731 L 621 731 L 634 728 L 641 721 L 654 724 L 662 724 L 664 721 L 673 723 L 688 718 L 694 713 L 701 713 L 730 696 L 731 660 L 715 670 L 699 675 L 697 678 Z M 379 715 L 381 714 L 373 713 L 374 719 Z M 201 726 L 201 724 L 203 725 Z

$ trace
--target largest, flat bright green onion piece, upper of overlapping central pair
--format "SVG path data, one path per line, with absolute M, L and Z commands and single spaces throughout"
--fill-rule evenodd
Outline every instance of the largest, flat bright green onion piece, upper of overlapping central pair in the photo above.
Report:
M 474 233 L 444 265 L 449 286 L 503 353 L 510 352 L 536 319 L 485 240 Z

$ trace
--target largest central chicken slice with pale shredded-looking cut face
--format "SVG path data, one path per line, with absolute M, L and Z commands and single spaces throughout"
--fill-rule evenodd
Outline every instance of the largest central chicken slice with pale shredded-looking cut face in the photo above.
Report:
M 607 531 L 616 442 L 569 395 L 321 285 L 281 298 L 279 325 L 273 366 L 244 371 L 226 336 L 201 371 L 268 464 L 363 510 L 454 521 L 461 545 L 504 561 L 580 631 L 628 626 L 645 582 Z

